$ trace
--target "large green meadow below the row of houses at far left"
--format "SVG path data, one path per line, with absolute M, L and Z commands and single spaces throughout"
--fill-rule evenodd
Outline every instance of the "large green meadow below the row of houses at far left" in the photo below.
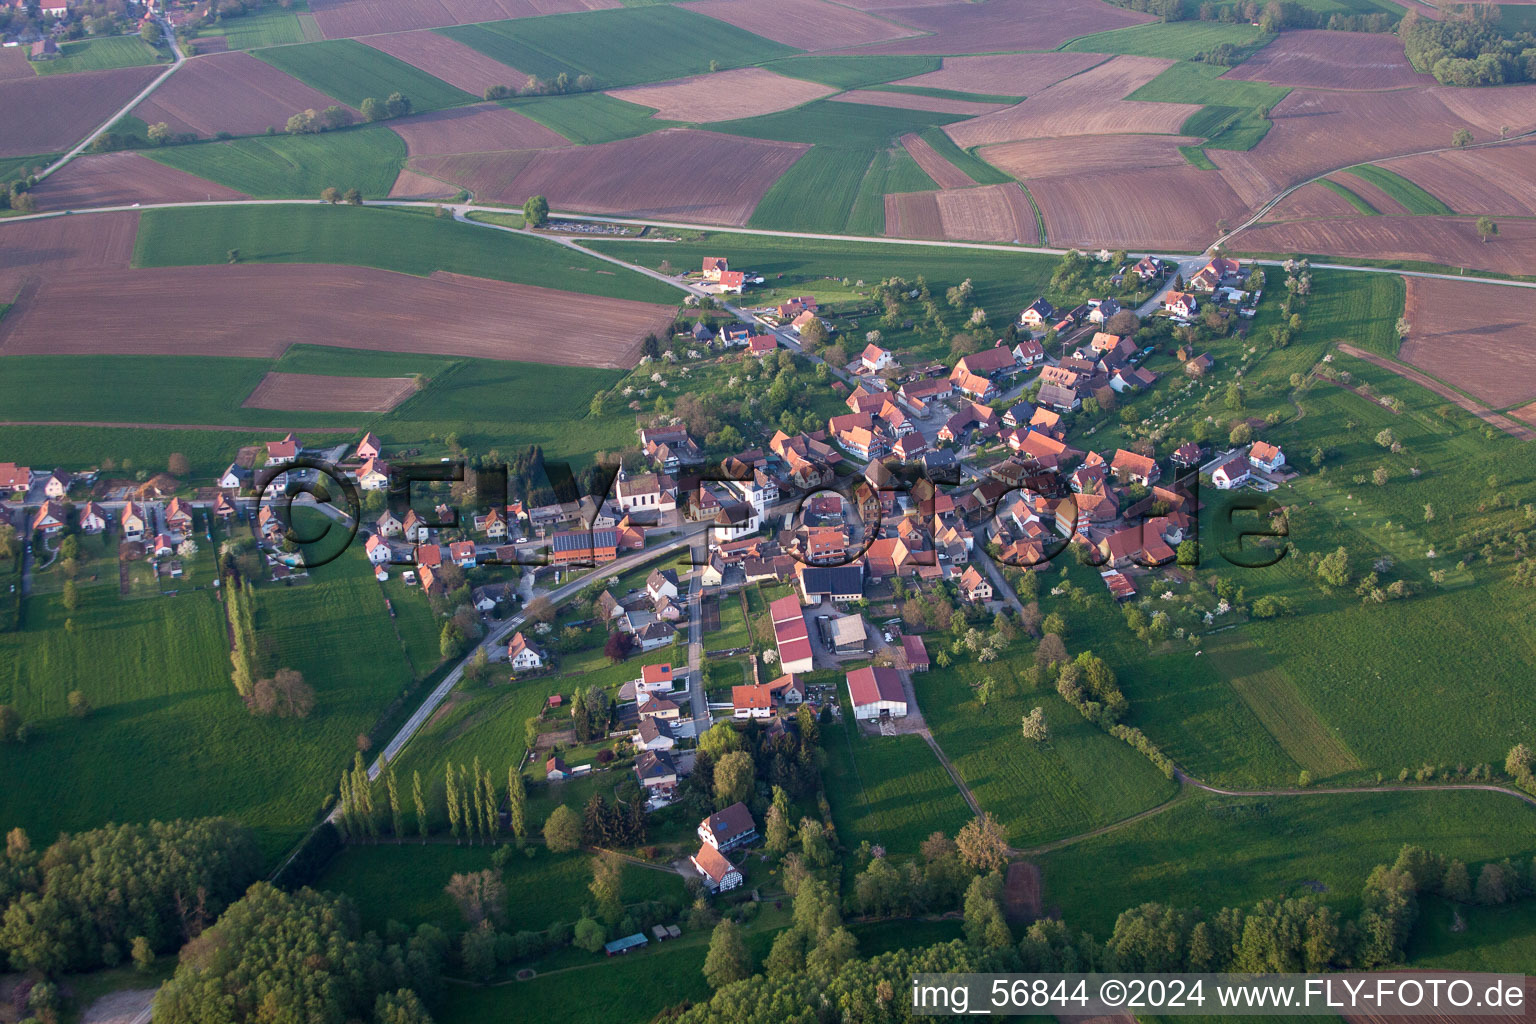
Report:
M 355 737 L 410 682 L 361 548 L 312 583 L 260 593 L 257 629 L 273 666 L 315 688 L 306 720 L 246 711 L 210 591 L 123 600 L 115 586 L 88 586 L 74 614 L 60 602 L 29 599 L 26 628 L 0 634 L 0 702 L 32 725 L 26 745 L 0 748 L 0 821 L 37 841 L 226 814 L 275 858 L 309 827 Z M 71 689 L 86 694 L 89 717 L 69 715 Z

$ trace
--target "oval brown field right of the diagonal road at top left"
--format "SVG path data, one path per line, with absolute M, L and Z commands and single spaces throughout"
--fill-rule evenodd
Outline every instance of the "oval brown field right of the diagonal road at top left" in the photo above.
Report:
M 324 111 L 335 103 L 250 54 L 230 52 L 181 64 L 134 107 L 134 117 L 146 124 L 164 121 L 172 132 L 258 135 L 269 127 L 283 130 L 298 111 Z

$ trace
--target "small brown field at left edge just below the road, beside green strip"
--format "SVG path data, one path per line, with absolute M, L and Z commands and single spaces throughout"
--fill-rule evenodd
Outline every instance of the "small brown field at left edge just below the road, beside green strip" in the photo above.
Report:
M 138 213 L 0 223 L 0 301 L 9 302 L 23 282 L 43 276 L 74 270 L 126 270 L 134 258 L 137 235 Z

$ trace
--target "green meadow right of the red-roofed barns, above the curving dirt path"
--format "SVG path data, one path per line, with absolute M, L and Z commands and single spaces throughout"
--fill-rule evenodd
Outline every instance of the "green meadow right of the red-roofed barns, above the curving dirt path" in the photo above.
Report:
M 1044 843 L 1157 806 L 1175 792 L 1152 765 L 1086 722 L 1054 691 L 994 695 L 982 706 L 974 688 L 1018 680 L 1018 654 L 991 665 L 962 663 L 915 677 L 917 702 L 934 738 L 960 771 L 983 811 L 1008 827 L 1015 846 Z M 1048 743 L 1020 735 L 1020 720 L 1043 706 Z

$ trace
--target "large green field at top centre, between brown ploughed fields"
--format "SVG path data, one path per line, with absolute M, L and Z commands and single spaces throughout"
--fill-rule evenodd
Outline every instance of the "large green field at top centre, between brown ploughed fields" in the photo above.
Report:
M 604 89 L 756 64 L 796 51 L 716 18 L 656 5 L 439 29 L 493 60 L 551 80 L 590 74 Z M 613 40 L 622 38 L 616 48 Z M 679 46 L 679 40 L 687 40 Z

